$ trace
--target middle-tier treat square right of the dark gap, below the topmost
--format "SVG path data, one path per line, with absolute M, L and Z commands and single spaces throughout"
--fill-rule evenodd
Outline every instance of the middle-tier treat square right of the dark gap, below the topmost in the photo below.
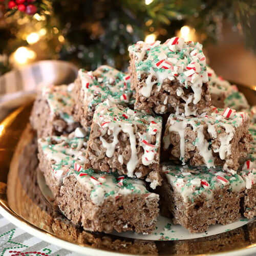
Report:
M 246 157 L 251 135 L 245 112 L 214 108 L 209 115 L 184 117 L 171 114 L 163 136 L 169 158 L 189 161 L 191 165 L 217 165 L 237 170 L 239 160 Z

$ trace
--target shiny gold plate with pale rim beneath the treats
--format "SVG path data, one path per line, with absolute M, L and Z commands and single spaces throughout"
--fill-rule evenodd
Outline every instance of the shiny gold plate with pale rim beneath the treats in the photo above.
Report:
M 241 87 L 240 87 L 241 88 Z M 249 90 L 255 104 L 255 91 Z M 242 90 L 243 91 L 243 90 Z M 72 225 L 41 193 L 37 145 L 28 118 L 32 103 L 0 123 L 0 214 L 42 240 L 86 255 L 256 253 L 256 222 L 198 239 L 159 241 L 84 231 Z M 40 183 L 40 186 L 38 185 Z

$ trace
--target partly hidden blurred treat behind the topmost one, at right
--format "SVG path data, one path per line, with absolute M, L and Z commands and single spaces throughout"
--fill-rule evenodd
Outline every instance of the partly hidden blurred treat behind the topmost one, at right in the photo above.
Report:
M 238 91 L 237 86 L 231 86 L 227 80 L 217 76 L 210 67 L 207 67 L 207 72 L 212 105 L 221 109 L 229 107 L 237 111 L 249 108 L 244 94 Z

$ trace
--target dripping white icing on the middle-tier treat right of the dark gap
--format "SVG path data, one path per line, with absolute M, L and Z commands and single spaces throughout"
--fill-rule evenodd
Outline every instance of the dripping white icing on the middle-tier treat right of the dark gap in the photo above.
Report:
M 178 133 L 180 136 L 180 160 L 182 164 L 185 164 L 185 135 L 189 131 L 188 127 L 190 126 L 197 135 L 197 139 L 193 144 L 198 148 L 205 165 L 208 168 L 215 167 L 212 150 L 215 153 L 219 153 L 220 159 L 226 159 L 231 154 L 231 140 L 236 133 L 237 127 L 248 120 L 248 115 L 245 112 L 234 112 L 229 118 L 222 115 L 224 115 L 223 110 L 220 113 L 217 111 L 217 113 L 212 112 L 211 115 L 201 115 L 198 117 L 184 117 L 184 115 L 171 114 L 166 124 L 168 128 L 164 134 L 164 148 L 167 149 L 170 145 L 170 133 Z M 210 135 L 210 143 L 204 135 L 203 129 L 205 127 Z M 224 129 L 224 133 L 221 133 L 221 128 Z M 217 136 L 218 133 L 221 133 L 220 136 Z M 212 144 L 216 139 L 218 139 L 220 145 Z M 227 163 L 225 163 L 224 169 L 227 167 Z

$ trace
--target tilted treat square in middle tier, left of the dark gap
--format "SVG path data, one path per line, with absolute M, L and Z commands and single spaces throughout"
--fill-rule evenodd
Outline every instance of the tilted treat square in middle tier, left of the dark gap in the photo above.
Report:
M 120 175 L 160 185 L 160 141 L 162 118 L 133 111 L 110 100 L 95 110 L 88 141 L 86 168 L 109 169 Z

